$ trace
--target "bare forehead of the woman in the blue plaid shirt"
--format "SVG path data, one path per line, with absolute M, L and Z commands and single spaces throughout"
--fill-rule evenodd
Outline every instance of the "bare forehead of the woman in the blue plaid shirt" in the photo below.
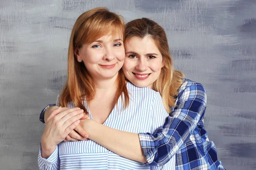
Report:
M 125 41 L 125 52 L 134 51 L 138 54 L 157 53 L 160 51 L 154 40 L 149 37 L 131 37 Z

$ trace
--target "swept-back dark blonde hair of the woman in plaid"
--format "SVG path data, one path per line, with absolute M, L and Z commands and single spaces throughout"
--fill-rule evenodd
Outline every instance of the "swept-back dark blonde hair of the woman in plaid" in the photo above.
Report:
M 144 38 L 145 36 L 154 40 L 163 57 L 164 66 L 160 76 L 153 83 L 152 89 L 161 94 L 164 107 L 170 113 L 170 108 L 175 106 L 175 97 L 183 83 L 184 75 L 173 68 L 166 33 L 161 26 L 148 18 L 132 20 L 125 25 L 125 42 L 131 37 Z

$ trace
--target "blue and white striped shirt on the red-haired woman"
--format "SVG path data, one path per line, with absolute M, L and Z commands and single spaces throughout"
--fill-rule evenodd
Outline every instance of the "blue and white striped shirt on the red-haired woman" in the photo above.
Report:
M 133 133 L 154 133 L 157 127 L 162 126 L 169 116 L 163 106 L 160 94 L 150 88 L 138 88 L 130 82 L 127 83 L 127 89 L 130 97 L 128 108 L 121 111 L 122 99 L 120 97 L 117 106 L 115 105 L 104 125 Z M 57 105 L 59 105 L 58 100 Z M 84 105 L 90 118 L 93 119 L 86 102 Z M 74 107 L 76 106 L 73 102 L 68 103 L 68 108 Z M 151 167 L 123 158 L 92 140 L 70 141 L 58 144 L 48 159 L 41 157 L 40 150 L 38 166 L 40 170 L 174 170 L 175 157 L 162 167 Z

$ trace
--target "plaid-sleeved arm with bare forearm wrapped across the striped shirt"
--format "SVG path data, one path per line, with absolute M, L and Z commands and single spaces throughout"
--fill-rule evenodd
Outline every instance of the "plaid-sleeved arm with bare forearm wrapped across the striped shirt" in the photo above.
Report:
M 154 134 L 123 132 L 87 119 L 83 120 L 87 121 L 83 128 L 89 139 L 120 156 L 162 166 L 189 139 L 206 108 L 206 93 L 201 84 L 187 87 L 178 98 L 173 117 L 168 116 Z

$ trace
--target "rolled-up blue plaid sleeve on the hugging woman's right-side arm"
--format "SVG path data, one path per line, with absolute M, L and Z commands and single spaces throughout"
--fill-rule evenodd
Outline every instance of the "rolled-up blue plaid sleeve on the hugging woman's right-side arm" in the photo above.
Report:
M 178 95 L 177 107 L 154 134 L 139 133 L 143 154 L 151 166 L 166 164 L 195 130 L 206 109 L 206 93 L 200 83 Z

